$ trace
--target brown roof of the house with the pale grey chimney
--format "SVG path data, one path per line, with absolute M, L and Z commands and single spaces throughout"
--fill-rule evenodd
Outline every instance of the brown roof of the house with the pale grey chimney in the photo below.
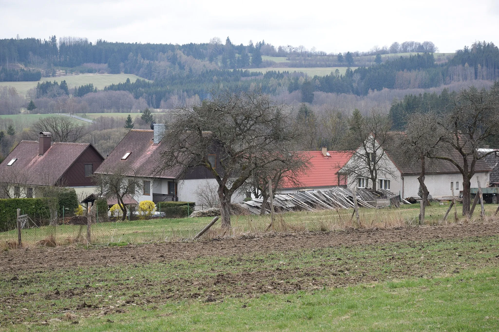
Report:
M 111 154 L 102 162 L 95 173 L 111 173 L 121 165 L 135 171 L 136 176 L 176 179 L 181 173 L 181 167 L 159 171 L 161 166 L 161 142 L 153 144 L 154 130 L 131 129 L 118 143 Z M 121 160 L 125 153 L 131 152 L 126 160 Z M 133 175 L 131 172 L 130 174 Z

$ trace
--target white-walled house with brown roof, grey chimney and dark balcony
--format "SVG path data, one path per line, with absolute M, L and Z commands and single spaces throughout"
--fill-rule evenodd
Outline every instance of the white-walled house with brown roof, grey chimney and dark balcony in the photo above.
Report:
M 113 170 L 127 166 L 129 177 L 141 179 L 142 188 L 139 195 L 133 197 L 137 202 L 196 202 L 196 190 L 207 182 L 218 186 L 211 172 L 203 166 L 189 168 L 186 172 L 182 167 L 162 169 L 161 139 L 165 131 L 164 124 L 154 124 L 154 129 L 131 129 L 118 143 L 114 150 L 104 160 L 98 174 L 112 174 Z M 208 155 L 212 165 L 217 168 L 218 155 L 214 152 Z M 133 172 L 133 174 L 132 174 Z M 241 195 L 234 195 L 233 201 L 240 202 Z

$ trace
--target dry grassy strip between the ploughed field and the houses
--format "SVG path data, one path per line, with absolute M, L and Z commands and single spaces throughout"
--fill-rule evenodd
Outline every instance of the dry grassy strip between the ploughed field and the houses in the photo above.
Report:
M 363 227 L 390 227 L 415 225 L 418 223 L 419 204 L 402 206 L 402 209 L 360 209 L 360 219 Z M 486 204 L 486 215 L 492 216 L 496 206 Z M 460 206 L 458 209 L 458 216 Z M 433 204 L 427 208 L 427 223 L 436 224 L 442 220 L 448 205 Z M 288 212 L 276 217 L 277 231 L 328 231 L 344 229 L 345 224 L 351 224 L 352 210 L 322 210 L 316 212 Z M 479 218 L 479 213 L 475 213 Z M 137 221 L 102 222 L 92 225 L 92 242 L 94 243 L 146 243 L 153 241 L 169 241 L 181 238 L 191 238 L 212 218 L 179 218 L 153 219 Z M 246 231 L 263 231 L 270 222 L 269 215 L 233 216 L 231 218 L 234 233 Z M 282 222 L 281 222 L 282 221 Z M 454 221 L 454 213 L 448 217 L 448 222 Z M 86 226 L 58 225 L 32 227 L 22 230 L 22 240 L 25 244 L 35 244 L 37 241 L 54 236 L 59 244 L 72 243 L 78 235 L 86 236 Z M 213 229 L 220 228 L 216 224 Z M 17 231 L 0 232 L 0 243 L 17 240 Z

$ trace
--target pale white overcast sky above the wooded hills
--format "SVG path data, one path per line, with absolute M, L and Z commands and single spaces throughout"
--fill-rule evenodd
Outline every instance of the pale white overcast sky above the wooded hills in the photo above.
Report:
M 0 0 L 0 38 L 17 34 L 174 44 L 230 36 L 335 53 L 430 40 L 454 52 L 475 40 L 499 44 L 499 0 Z

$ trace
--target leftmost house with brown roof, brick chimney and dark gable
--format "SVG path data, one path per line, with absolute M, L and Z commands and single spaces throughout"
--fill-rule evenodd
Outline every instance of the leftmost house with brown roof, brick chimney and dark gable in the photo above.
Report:
M 104 157 L 88 143 L 52 142 L 50 132 L 38 141 L 21 140 L 0 164 L 3 196 L 32 198 L 40 187 L 74 188 L 76 194 L 96 189 L 92 174 Z

